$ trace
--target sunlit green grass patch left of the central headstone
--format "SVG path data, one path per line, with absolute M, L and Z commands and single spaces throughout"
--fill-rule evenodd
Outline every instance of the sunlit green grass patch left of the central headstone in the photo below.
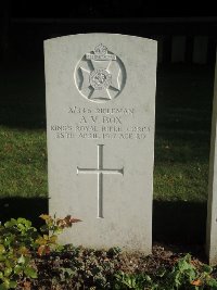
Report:
M 47 197 L 46 133 L 0 126 L 0 194 Z

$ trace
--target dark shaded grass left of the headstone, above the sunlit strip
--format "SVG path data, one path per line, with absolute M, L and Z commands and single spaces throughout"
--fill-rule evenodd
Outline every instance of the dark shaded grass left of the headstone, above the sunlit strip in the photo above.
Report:
M 0 124 L 23 129 L 46 128 L 43 64 L 0 67 Z

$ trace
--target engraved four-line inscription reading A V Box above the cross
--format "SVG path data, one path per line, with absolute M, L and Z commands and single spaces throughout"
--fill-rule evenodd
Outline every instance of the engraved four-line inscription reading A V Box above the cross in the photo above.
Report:
M 69 108 L 75 119 L 71 124 L 52 124 L 50 130 L 56 139 L 127 139 L 146 138 L 151 127 L 135 124 L 135 108 Z

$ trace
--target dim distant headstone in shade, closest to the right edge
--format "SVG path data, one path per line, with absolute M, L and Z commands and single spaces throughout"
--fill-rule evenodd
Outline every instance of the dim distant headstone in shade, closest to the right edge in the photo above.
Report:
M 193 62 L 206 64 L 207 62 L 208 37 L 195 36 L 193 46 Z

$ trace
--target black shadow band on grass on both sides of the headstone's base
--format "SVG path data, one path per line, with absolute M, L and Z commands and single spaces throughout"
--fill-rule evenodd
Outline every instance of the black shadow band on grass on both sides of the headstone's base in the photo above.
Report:
M 25 217 L 41 226 L 39 215 L 48 213 L 48 199 L 0 199 L 1 223 Z M 166 243 L 203 244 L 206 230 L 206 203 L 162 202 L 153 205 L 153 240 Z

